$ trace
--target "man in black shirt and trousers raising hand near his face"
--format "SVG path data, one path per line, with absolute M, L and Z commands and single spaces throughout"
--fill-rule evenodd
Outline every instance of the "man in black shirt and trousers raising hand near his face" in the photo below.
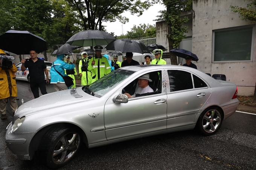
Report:
M 21 60 L 21 71 L 29 69 L 29 84 L 31 91 L 35 98 L 39 97 L 39 89 L 42 94 L 47 94 L 46 86 L 44 82 L 44 73 L 46 74 L 46 83 L 49 83 L 48 70 L 43 60 L 37 57 L 37 52 L 35 50 L 30 51 L 29 60 Z

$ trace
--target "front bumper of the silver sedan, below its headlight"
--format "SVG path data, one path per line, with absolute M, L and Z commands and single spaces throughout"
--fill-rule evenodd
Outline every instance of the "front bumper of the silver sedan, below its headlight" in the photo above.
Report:
M 35 133 L 11 133 L 12 124 L 7 127 L 5 143 L 14 156 L 20 160 L 32 160 L 29 145 Z M 34 155 L 34 154 L 33 154 Z

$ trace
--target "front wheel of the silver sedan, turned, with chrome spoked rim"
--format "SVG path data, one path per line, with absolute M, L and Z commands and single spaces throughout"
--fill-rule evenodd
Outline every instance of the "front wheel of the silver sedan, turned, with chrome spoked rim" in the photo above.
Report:
M 81 139 L 78 130 L 64 127 L 51 128 L 42 138 L 39 155 L 49 168 L 62 167 L 78 153 Z

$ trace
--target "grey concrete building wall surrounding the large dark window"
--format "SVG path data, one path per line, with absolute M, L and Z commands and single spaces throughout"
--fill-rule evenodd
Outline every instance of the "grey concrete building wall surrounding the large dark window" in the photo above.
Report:
M 182 13 L 190 21 L 186 24 L 189 26 L 187 38 L 180 48 L 198 56 L 199 61 L 193 62 L 198 70 L 211 75 L 226 75 L 226 81 L 238 86 L 238 95 L 254 94 L 256 34 L 255 23 L 242 21 L 238 13 L 231 11 L 230 5 L 246 7 L 248 3 L 250 1 L 193 0 L 193 11 Z M 157 22 L 156 30 L 157 43 L 168 48 L 165 21 Z

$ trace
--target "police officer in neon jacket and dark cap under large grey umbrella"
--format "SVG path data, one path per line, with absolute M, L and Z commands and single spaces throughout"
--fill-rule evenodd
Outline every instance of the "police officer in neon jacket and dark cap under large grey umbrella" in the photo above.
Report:
M 101 55 L 102 49 L 102 46 L 95 46 L 95 56 L 93 56 L 88 63 L 88 70 L 91 71 L 93 82 L 111 72 L 111 67 L 107 58 Z

